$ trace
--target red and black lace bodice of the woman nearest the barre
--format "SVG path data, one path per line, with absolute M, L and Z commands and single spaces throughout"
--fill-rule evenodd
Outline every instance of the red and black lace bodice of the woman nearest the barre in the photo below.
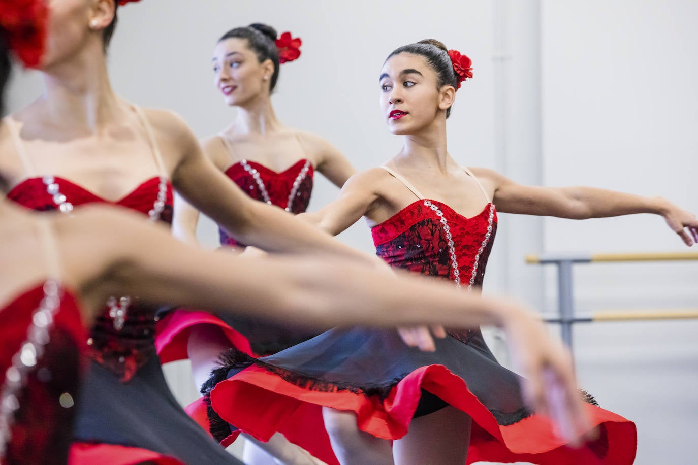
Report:
M 496 208 L 491 203 L 479 214 L 466 218 L 439 201 L 417 200 L 371 229 L 376 255 L 395 268 L 454 280 L 445 224 L 431 205 L 443 213 L 452 235 L 462 286 L 468 287 L 470 284 L 476 262 L 473 285 L 482 286 L 497 229 Z M 487 236 L 490 212 L 491 232 Z M 487 244 L 482 247 L 486 239 Z

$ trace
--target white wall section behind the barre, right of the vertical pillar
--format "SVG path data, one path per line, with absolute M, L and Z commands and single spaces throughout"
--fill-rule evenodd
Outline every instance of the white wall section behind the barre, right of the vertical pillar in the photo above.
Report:
M 544 183 L 662 195 L 698 211 L 696 17 L 690 0 L 542 1 Z M 651 215 L 547 219 L 544 234 L 548 251 L 686 250 Z M 579 266 L 577 303 L 580 311 L 695 308 L 697 268 Z M 548 279 L 549 303 L 554 289 Z M 695 463 L 697 331 L 696 321 L 664 321 L 574 333 L 582 385 L 637 422 L 638 464 Z

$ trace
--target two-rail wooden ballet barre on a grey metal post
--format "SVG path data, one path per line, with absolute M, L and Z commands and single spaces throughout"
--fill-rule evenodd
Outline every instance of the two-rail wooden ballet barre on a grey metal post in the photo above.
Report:
M 677 310 L 606 310 L 586 316 L 574 314 L 572 293 L 572 266 L 574 264 L 610 263 L 623 261 L 698 261 L 697 252 L 642 252 L 630 254 L 561 254 L 542 253 L 526 255 L 527 264 L 554 264 L 558 270 L 558 317 L 544 318 L 548 323 L 559 323 L 563 341 L 572 347 L 572 325 L 592 321 L 647 321 L 660 319 L 698 319 L 698 308 Z

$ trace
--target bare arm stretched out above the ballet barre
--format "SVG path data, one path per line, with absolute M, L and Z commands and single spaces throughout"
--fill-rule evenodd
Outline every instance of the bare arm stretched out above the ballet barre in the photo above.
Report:
M 644 197 L 585 186 L 547 188 L 521 185 L 487 168 L 473 173 L 494 190 L 497 210 L 524 215 L 546 215 L 573 220 L 654 213 L 661 215 L 685 245 L 698 242 L 698 220 L 662 197 Z

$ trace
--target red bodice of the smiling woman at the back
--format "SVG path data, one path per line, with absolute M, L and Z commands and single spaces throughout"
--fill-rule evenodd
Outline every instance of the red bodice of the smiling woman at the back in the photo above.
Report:
M 247 161 L 248 165 L 256 169 L 260 175 L 260 181 L 264 183 L 267 195 L 272 204 L 281 208 L 287 208 L 289 195 L 294 190 L 293 183 L 299 178 L 302 169 L 308 160 L 298 160 L 285 171 L 277 172 L 269 169 L 257 162 Z M 310 196 L 313 192 L 313 165 L 309 165 L 306 176 L 300 181 L 297 186 L 295 195 L 291 201 L 290 212 L 297 215 L 303 213 L 308 208 Z M 225 176 L 228 176 L 239 188 L 247 195 L 255 200 L 266 201 L 262 190 L 251 173 L 246 171 L 242 162 L 237 162 L 225 170 Z M 244 245 L 237 243 L 234 238 L 230 237 L 223 228 L 218 228 L 221 236 L 221 245 Z

